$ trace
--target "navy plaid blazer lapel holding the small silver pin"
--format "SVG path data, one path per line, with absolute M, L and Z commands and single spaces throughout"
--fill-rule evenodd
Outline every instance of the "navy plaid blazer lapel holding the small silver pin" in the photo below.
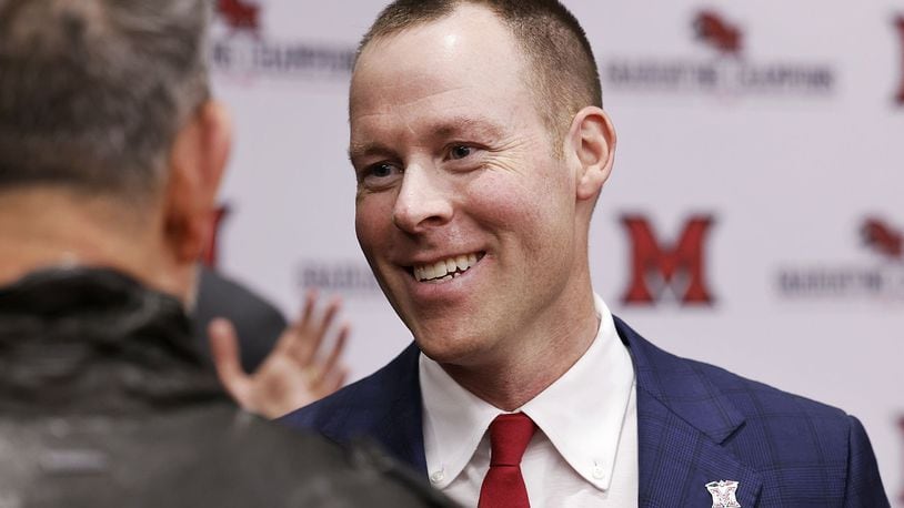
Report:
M 725 446 L 742 431 L 744 417 L 697 370 L 697 364 L 667 354 L 615 318 L 637 376 L 637 446 L 641 507 L 712 507 L 706 484 L 737 481 L 742 507 L 756 506 L 760 475 Z

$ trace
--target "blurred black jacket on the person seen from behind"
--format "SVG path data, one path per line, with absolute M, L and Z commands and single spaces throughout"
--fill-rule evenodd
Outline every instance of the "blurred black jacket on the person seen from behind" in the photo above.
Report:
M 451 506 L 238 409 L 203 365 L 179 302 L 115 272 L 0 288 L 0 507 Z

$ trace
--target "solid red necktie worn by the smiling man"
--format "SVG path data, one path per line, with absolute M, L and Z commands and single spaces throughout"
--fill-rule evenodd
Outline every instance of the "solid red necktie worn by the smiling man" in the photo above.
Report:
M 523 413 L 499 415 L 490 424 L 490 470 L 480 488 L 478 508 L 530 508 L 521 457 L 536 425 Z

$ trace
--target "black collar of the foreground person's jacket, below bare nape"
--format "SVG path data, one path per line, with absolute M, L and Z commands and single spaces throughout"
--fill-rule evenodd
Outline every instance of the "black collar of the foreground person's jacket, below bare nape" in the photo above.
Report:
M 117 414 L 227 400 L 172 296 L 107 268 L 0 287 L 0 413 Z

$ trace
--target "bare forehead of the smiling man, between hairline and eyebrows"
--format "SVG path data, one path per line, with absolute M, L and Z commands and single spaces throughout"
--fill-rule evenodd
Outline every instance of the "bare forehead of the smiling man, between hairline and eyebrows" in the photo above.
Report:
M 468 8 L 372 40 L 352 74 L 351 121 L 415 110 L 420 101 L 465 111 L 480 98 L 523 101 L 531 95 L 529 67 L 518 58 L 515 45 L 495 14 Z M 444 96 L 439 99 L 441 94 Z

